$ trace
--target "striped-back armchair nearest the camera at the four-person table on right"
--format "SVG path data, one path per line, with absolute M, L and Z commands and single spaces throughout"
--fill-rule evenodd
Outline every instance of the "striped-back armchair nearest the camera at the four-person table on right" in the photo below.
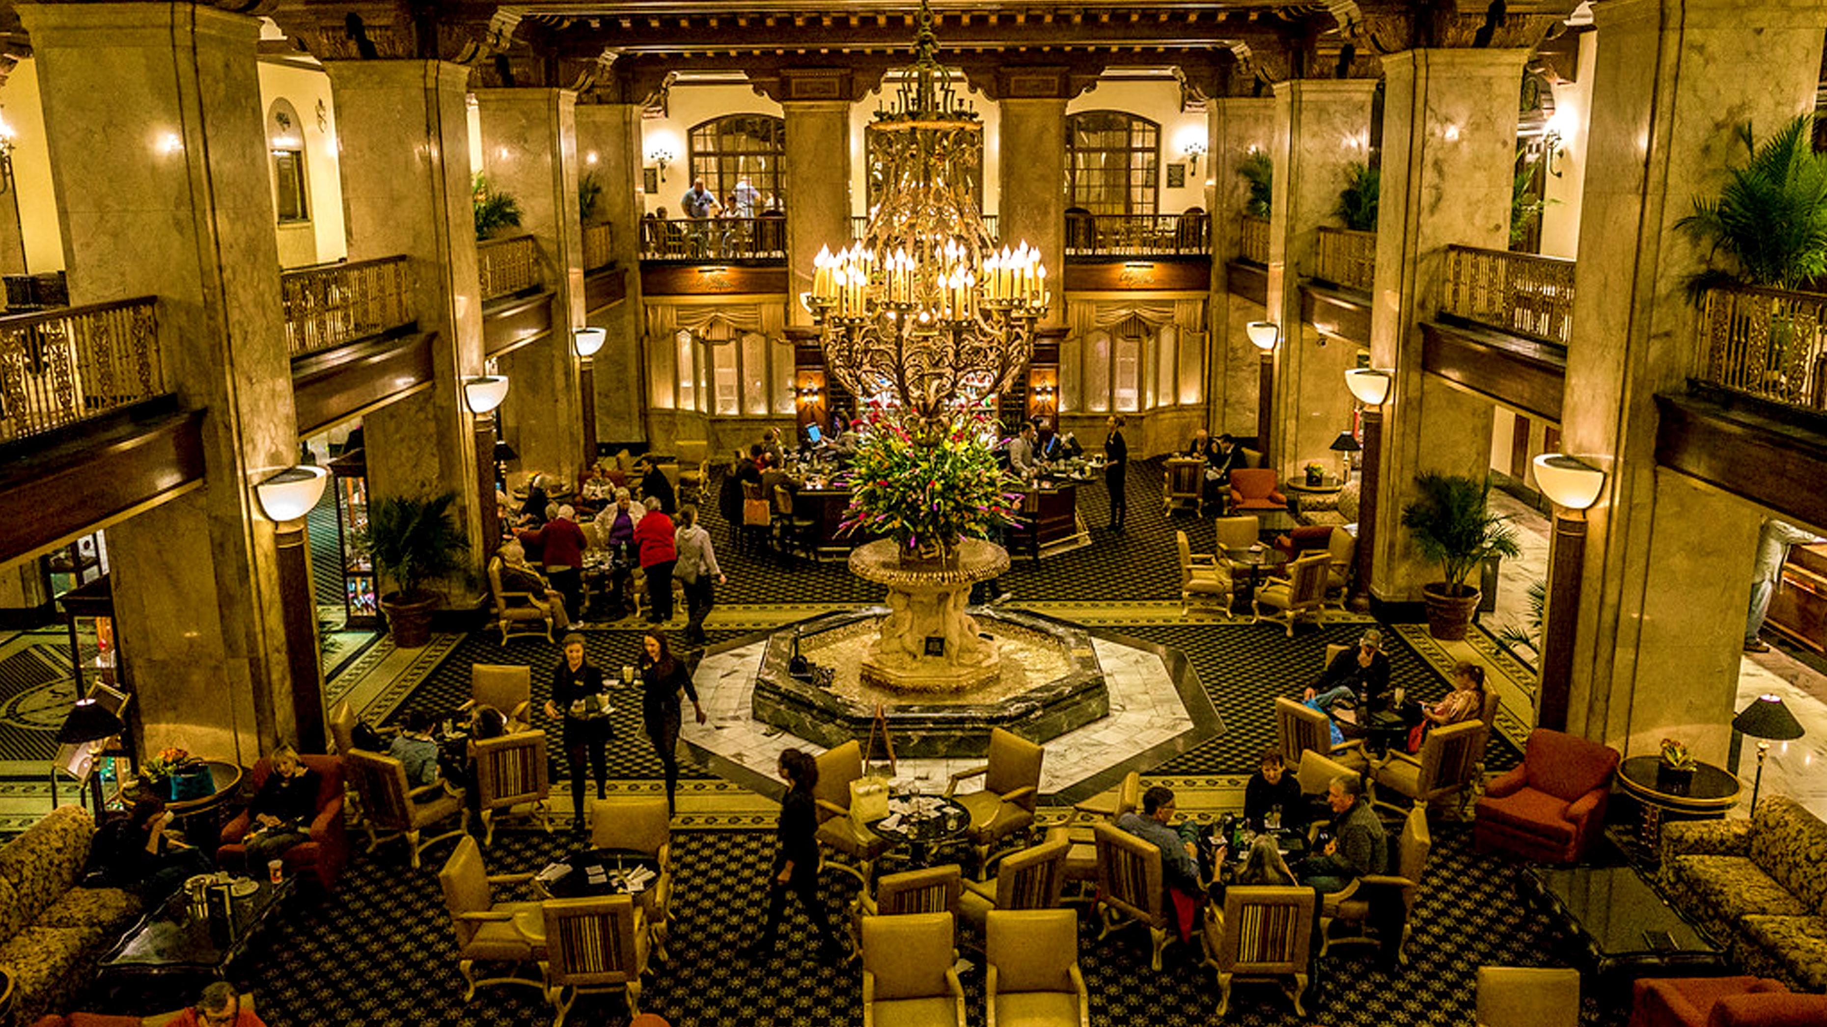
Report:
M 1231 981 L 1288 978 L 1294 989 L 1294 1014 L 1306 1016 L 1306 994 L 1314 945 L 1314 890 L 1301 886 L 1231 884 L 1224 906 L 1206 905 L 1200 932 L 1206 965 L 1219 972 L 1219 1016 L 1231 1005 Z

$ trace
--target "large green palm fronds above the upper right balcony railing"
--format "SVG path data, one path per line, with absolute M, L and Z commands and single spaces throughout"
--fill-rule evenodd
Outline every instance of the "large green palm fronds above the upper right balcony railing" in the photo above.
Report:
M 1721 281 L 1800 289 L 1827 274 L 1827 155 L 1812 144 L 1814 115 L 1798 115 L 1756 144 L 1737 128 L 1748 163 L 1727 168 L 1719 196 L 1695 197 L 1694 214 L 1675 223 L 1708 245 L 1708 269 L 1688 278 L 1688 298 Z M 1714 265 L 1725 256 L 1728 267 Z

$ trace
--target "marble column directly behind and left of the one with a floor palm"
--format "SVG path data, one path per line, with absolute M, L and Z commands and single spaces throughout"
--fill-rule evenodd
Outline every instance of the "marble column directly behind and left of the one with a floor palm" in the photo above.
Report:
M 1345 168 L 1370 148 L 1374 79 L 1294 79 L 1275 84 L 1270 161 L 1275 190 L 1268 219 L 1268 320 L 1281 325 L 1275 347 L 1275 409 L 1270 466 L 1286 481 L 1308 462 L 1332 466 L 1328 450 L 1350 426 L 1345 371 L 1356 347 L 1326 344 L 1301 318 L 1301 280 L 1314 272 L 1319 227 L 1337 225 Z

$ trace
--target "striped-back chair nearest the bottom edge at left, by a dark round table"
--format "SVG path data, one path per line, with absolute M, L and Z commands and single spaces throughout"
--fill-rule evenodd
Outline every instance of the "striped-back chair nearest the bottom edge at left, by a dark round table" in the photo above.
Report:
M 528 941 L 546 947 L 541 967 L 546 972 L 546 1001 L 557 1011 L 552 1027 L 565 1027 L 579 992 L 619 990 L 628 1000 L 628 1016 L 639 1016 L 647 921 L 634 897 L 550 899 L 541 910 L 546 930 L 528 936 Z

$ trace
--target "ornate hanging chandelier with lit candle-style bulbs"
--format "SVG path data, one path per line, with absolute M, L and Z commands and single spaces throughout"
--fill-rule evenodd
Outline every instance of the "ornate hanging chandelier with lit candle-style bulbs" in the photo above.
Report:
M 921 4 L 914 64 L 875 111 L 882 199 L 862 241 L 818 250 L 800 302 L 826 369 L 859 400 L 935 428 L 1003 393 L 1034 353 L 1047 269 L 1023 241 L 996 249 L 970 183 L 983 122 L 939 64 Z

